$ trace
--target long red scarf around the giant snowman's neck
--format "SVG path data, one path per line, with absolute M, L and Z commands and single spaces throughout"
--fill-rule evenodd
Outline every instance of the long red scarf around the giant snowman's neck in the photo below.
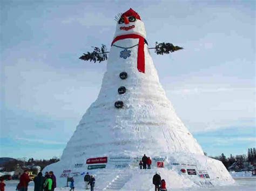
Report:
M 137 58 L 137 69 L 139 72 L 145 73 L 145 55 L 144 55 L 144 38 L 140 35 L 130 34 L 130 35 L 121 35 L 117 36 L 113 39 L 111 46 L 117 42 L 117 40 L 122 40 L 126 38 L 138 38 L 139 46 L 138 46 L 138 58 Z

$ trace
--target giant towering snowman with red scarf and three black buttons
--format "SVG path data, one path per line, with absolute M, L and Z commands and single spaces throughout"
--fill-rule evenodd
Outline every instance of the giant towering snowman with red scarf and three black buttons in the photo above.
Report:
M 66 176 L 83 181 L 83 174 L 92 170 L 102 180 L 98 189 L 150 189 L 151 178 L 134 173 L 143 154 L 153 160 L 152 170 L 145 173 L 151 177 L 161 162 L 164 168 L 157 169 L 172 187 L 184 187 L 184 182 L 187 187 L 233 183 L 220 161 L 204 155 L 175 113 L 159 83 L 144 23 L 130 9 L 117 23 L 98 98 L 83 115 L 60 161 L 44 170 L 55 171 L 63 182 L 59 186 L 64 186 Z M 122 170 L 133 179 L 111 187 Z M 142 179 L 148 187 L 134 183 Z

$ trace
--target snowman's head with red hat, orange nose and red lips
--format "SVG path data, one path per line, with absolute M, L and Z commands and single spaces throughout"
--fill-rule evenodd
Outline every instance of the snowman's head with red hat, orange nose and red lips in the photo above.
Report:
M 129 9 L 117 22 L 114 38 L 120 35 L 136 34 L 146 38 L 145 26 L 137 12 Z

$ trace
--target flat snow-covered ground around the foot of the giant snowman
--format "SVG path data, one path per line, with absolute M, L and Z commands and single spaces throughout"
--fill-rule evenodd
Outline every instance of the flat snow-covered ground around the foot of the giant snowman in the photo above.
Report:
M 256 176 L 252 177 L 235 177 L 235 184 L 231 186 L 224 186 L 224 187 L 213 187 L 213 188 L 186 188 L 186 189 L 172 189 L 171 186 L 168 186 L 168 190 L 173 190 L 173 191 L 178 191 L 178 190 L 191 190 L 191 191 L 196 191 L 196 190 L 226 190 L 226 191 L 254 191 L 256 188 Z M 18 184 L 17 180 L 11 180 L 11 181 L 6 181 L 6 191 L 14 191 L 16 189 L 16 185 Z M 57 188 L 55 189 L 56 191 L 59 190 L 69 190 L 69 188 Z M 75 190 L 83 190 L 83 189 L 75 189 Z M 99 189 L 95 189 L 99 190 Z M 126 189 L 126 190 L 132 190 L 132 189 Z M 146 190 L 154 190 L 153 187 L 150 189 Z M 33 191 L 33 182 L 29 184 L 29 189 L 28 191 Z

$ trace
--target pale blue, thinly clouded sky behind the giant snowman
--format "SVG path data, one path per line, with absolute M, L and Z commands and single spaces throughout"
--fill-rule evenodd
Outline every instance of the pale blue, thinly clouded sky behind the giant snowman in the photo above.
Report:
M 256 147 L 255 1 L 1 1 L 0 157 L 60 156 L 97 98 L 106 63 L 78 57 L 112 41 L 136 10 L 167 97 L 208 155 Z

